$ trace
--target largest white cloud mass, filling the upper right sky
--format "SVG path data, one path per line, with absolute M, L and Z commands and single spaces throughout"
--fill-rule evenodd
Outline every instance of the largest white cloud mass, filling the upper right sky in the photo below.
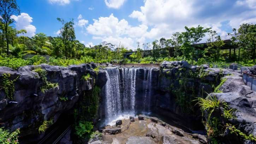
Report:
M 249 9 L 241 6 L 248 6 Z M 221 22 L 230 21 L 232 28 L 246 22 L 255 23 L 255 6 L 255 0 L 238 0 L 235 3 L 228 0 L 144 0 L 141 10 L 133 11 L 129 17 L 150 26 L 151 29 L 144 35 L 149 39 L 169 38 L 173 32 L 184 31 L 184 26 L 197 25 L 212 27 L 224 39 L 227 32 L 221 30 Z

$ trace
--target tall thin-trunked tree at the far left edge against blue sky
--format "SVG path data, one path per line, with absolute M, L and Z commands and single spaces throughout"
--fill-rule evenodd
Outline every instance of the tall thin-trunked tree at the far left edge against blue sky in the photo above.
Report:
M 4 25 L 4 34 L 7 45 L 7 55 L 9 55 L 9 34 L 8 26 L 13 23 L 12 15 L 19 14 L 19 6 L 16 0 L 0 0 L 0 22 Z

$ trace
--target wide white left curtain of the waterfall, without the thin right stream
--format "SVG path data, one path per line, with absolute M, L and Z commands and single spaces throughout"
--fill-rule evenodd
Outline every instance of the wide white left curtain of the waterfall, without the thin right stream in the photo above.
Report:
M 137 68 L 106 68 L 107 83 L 105 86 L 106 118 L 127 112 L 135 113 L 135 86 Z

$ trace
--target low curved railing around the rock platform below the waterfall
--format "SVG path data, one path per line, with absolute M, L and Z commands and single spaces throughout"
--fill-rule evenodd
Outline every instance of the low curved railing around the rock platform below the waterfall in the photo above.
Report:
M 150 119 L 151 121 L 152 121 L 152 119 L 154 119 L 155 121 L 160 122 L 160 125 L 162 125 L 162 126 L 168 128 L 168 129 L 171 130 L 172 132 L 173 132 L 173 130 L 174 130 L 174 131 L 178 131 L 178 132 L 183 133 L 183 135 L 186 134 L 187 137 L 189 137 L 189 136 L 192 136 L 192 137 L 193 137 L 193 136 L 198 136 L 197 133 L 187 133 L 187 132 L 184 132 L 184 131 L 180 131 L 180 130 L 178 130 L 177 128 L 175 128 L 174 126 L 171 126 L 171 125 L 167 124 L 166 122 L 164 122 L 164 121 L 162 121 L 162 120 L 159 120 L 159 119 L 156 119 L 156 118 L 153 118 L 153 117 L 150 117 L 150 116 L 144 116 L 144 115 L 142 115 L 142 116 L 136 116 L 136 117 L 133 118 L 133 119 L 134 119 L 134 122 L 137 121 L 137 120 L 139 120 L 139 117 L 143 117 L 143 119 L 145 119 L 145 118 L 146 118 L 146 119 Z M 130 127 L 130 124 L 133 123 L 131 120 L 133 120 L 133 119 L 130 119 L 126 125 L 124 125 L 124 126 L 122 126 L 122 127 L 120 127 L 120 128 L 99 129 L 99 130 L 100 130 L 100 131 L 105 130 L 105 133 L 108 133 L 109 131 L 110 131 L 110 132 L 113 132 L 113 131 L 116 131 L 116 132 L 117 132 L 117 131 L 118 131 L 119 133 L 122 133 L 122 132 L 124 132 L 125 130 L 127 130 L 127 129 Z

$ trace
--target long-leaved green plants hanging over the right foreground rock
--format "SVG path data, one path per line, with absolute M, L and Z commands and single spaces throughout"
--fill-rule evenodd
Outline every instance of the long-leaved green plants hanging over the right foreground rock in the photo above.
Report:
M 199 97 L 197 104 L 200 106 L 204 117 L 203 123 L 207 128 L 207 136 L 210 143 L 218 144 L 220 140 L 227 134 L 226 130 L 230 130 L 231 134 L 256 142 L 256 137 L 252 134 L 245 134 L 238 130 L 236 126 L 230 124 L 231 119 L 236 119 L 234 113 L 236 109 L 228 107 L 227 103 L 219 101 L 215 96 L 208 96 L 206 99 Z

